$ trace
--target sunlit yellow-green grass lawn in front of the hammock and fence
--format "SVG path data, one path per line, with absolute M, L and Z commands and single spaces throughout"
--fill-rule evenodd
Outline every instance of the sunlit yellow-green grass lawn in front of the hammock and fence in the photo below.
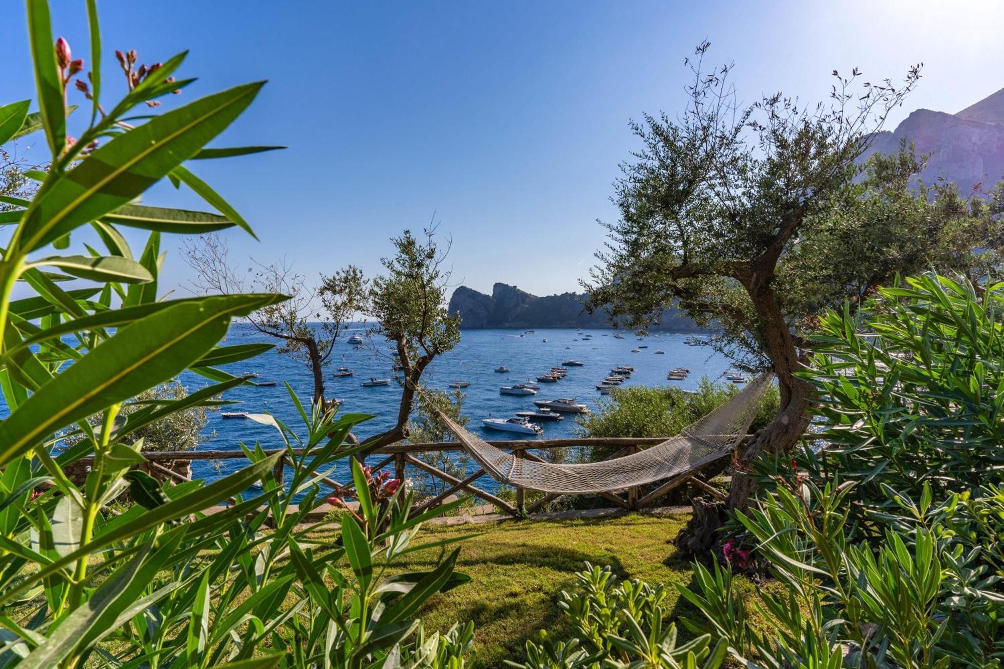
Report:
M 559 636 L 568 625 L 557 607 L 562 590 L 575 587 L 575 572 L 586 561 L 609 565 L 620 579 L 650 583 L 691 582 L 690 565 L 678 558 L 671 540 L 687 521 L 686 514 L 575 520 L 508 520 L 486 524 L 426 525 L 423 542 L 475 531 L 484 532 L 461 545 L 457 571 L 471 583 L 437 596 L 423 611 L 427 630 L 447 630 L 454 622 L 473 620 L 476 627 L 474 667 L 499 667 L 524 656 L 524 644 L 537 630 Z M 451 549 L 450 546 L 447 549 Z M 416 552 L 403 571 L 431 569 L 440 549 Z M 754 592 L 736 579 L 741 590 Z M 700 617 L 679 601 L 674 614 Z M 682 626 L 679 626 L 682 628 Z M 686 630 L 683 630 L 687 636 Z

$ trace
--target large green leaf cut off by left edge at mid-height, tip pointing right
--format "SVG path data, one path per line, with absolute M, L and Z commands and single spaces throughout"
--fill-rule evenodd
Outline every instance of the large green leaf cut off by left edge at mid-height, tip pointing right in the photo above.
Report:
M 118 329 L 0 423 L 0 464 L 54 430 L 172 379 L 226 334 L 232 316 L 272 300 L 261 294 L 205 297 Z

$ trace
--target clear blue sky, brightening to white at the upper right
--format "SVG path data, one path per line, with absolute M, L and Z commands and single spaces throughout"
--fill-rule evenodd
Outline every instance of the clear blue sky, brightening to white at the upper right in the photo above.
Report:
M 34 97 L 23 5 L 3 4 L 0 91 L 4 101 Z M 56 34 L 86 57 L 82 0 L 52 4 Z M 171 105 L 270 80 L 216 144 L 289 149 L 194 166 L 261 238 L 230 233 L 238 258 L 372 273 L 388 238 L 435 211 L 454 241 L 455 280 L 486 291 L 495 281 L 538 294 L 576 288 L 603 240 L 595 220 L 614 216 L 610 183 L 636 148 L 629 120 L 681 106 L 683 59 L 705 38 L 713 60 L 735 60 L 746 101 L 774 90 L 821 99 L 834 67 L 874 80 L 923 60 L 895 125 L 913 108 L 954 113 L 1004 86 L 997 2 L 99 5 L 106 82 L 113 48 L 137 48 L 146 62 L 191 49 L 182 74 L 200 80 Z M 146 201 L 197 204 L 165 187 Z M 176 243 L 168 285 L 187 273 Z

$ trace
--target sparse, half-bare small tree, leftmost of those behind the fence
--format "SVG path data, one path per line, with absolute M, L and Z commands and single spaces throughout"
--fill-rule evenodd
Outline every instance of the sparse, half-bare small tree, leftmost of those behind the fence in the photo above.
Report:
M 289 295 L 246 320 L 259 332 L 281 341 L 277 353 L 306 365 L 313 375 L 313 401 L 324 401 L 324 370 L 345 324 L 362 309 L 366 281 L 353 265 L 321 276 L 314 287 L 285 259 L 273 263 L 249 260 L 241 271 L 230 257 L 226 238 L 211 233 L 184 241 L 185 259 L 195 270 L 191 287 L 200 294 L 274 292 Z

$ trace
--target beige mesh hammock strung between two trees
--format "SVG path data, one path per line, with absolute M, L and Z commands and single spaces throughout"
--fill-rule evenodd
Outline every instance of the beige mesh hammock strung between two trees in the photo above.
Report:
M 688 473 L 728 455 L 746 435 L 772 376 L 760 375 L 728 402 L 658 446 L 586 464 L 551 464 L 516 457 L 474 436 L 442 412 L 436 413 L 464 450 L 500 483 L 558 494 L 609 492 Z

